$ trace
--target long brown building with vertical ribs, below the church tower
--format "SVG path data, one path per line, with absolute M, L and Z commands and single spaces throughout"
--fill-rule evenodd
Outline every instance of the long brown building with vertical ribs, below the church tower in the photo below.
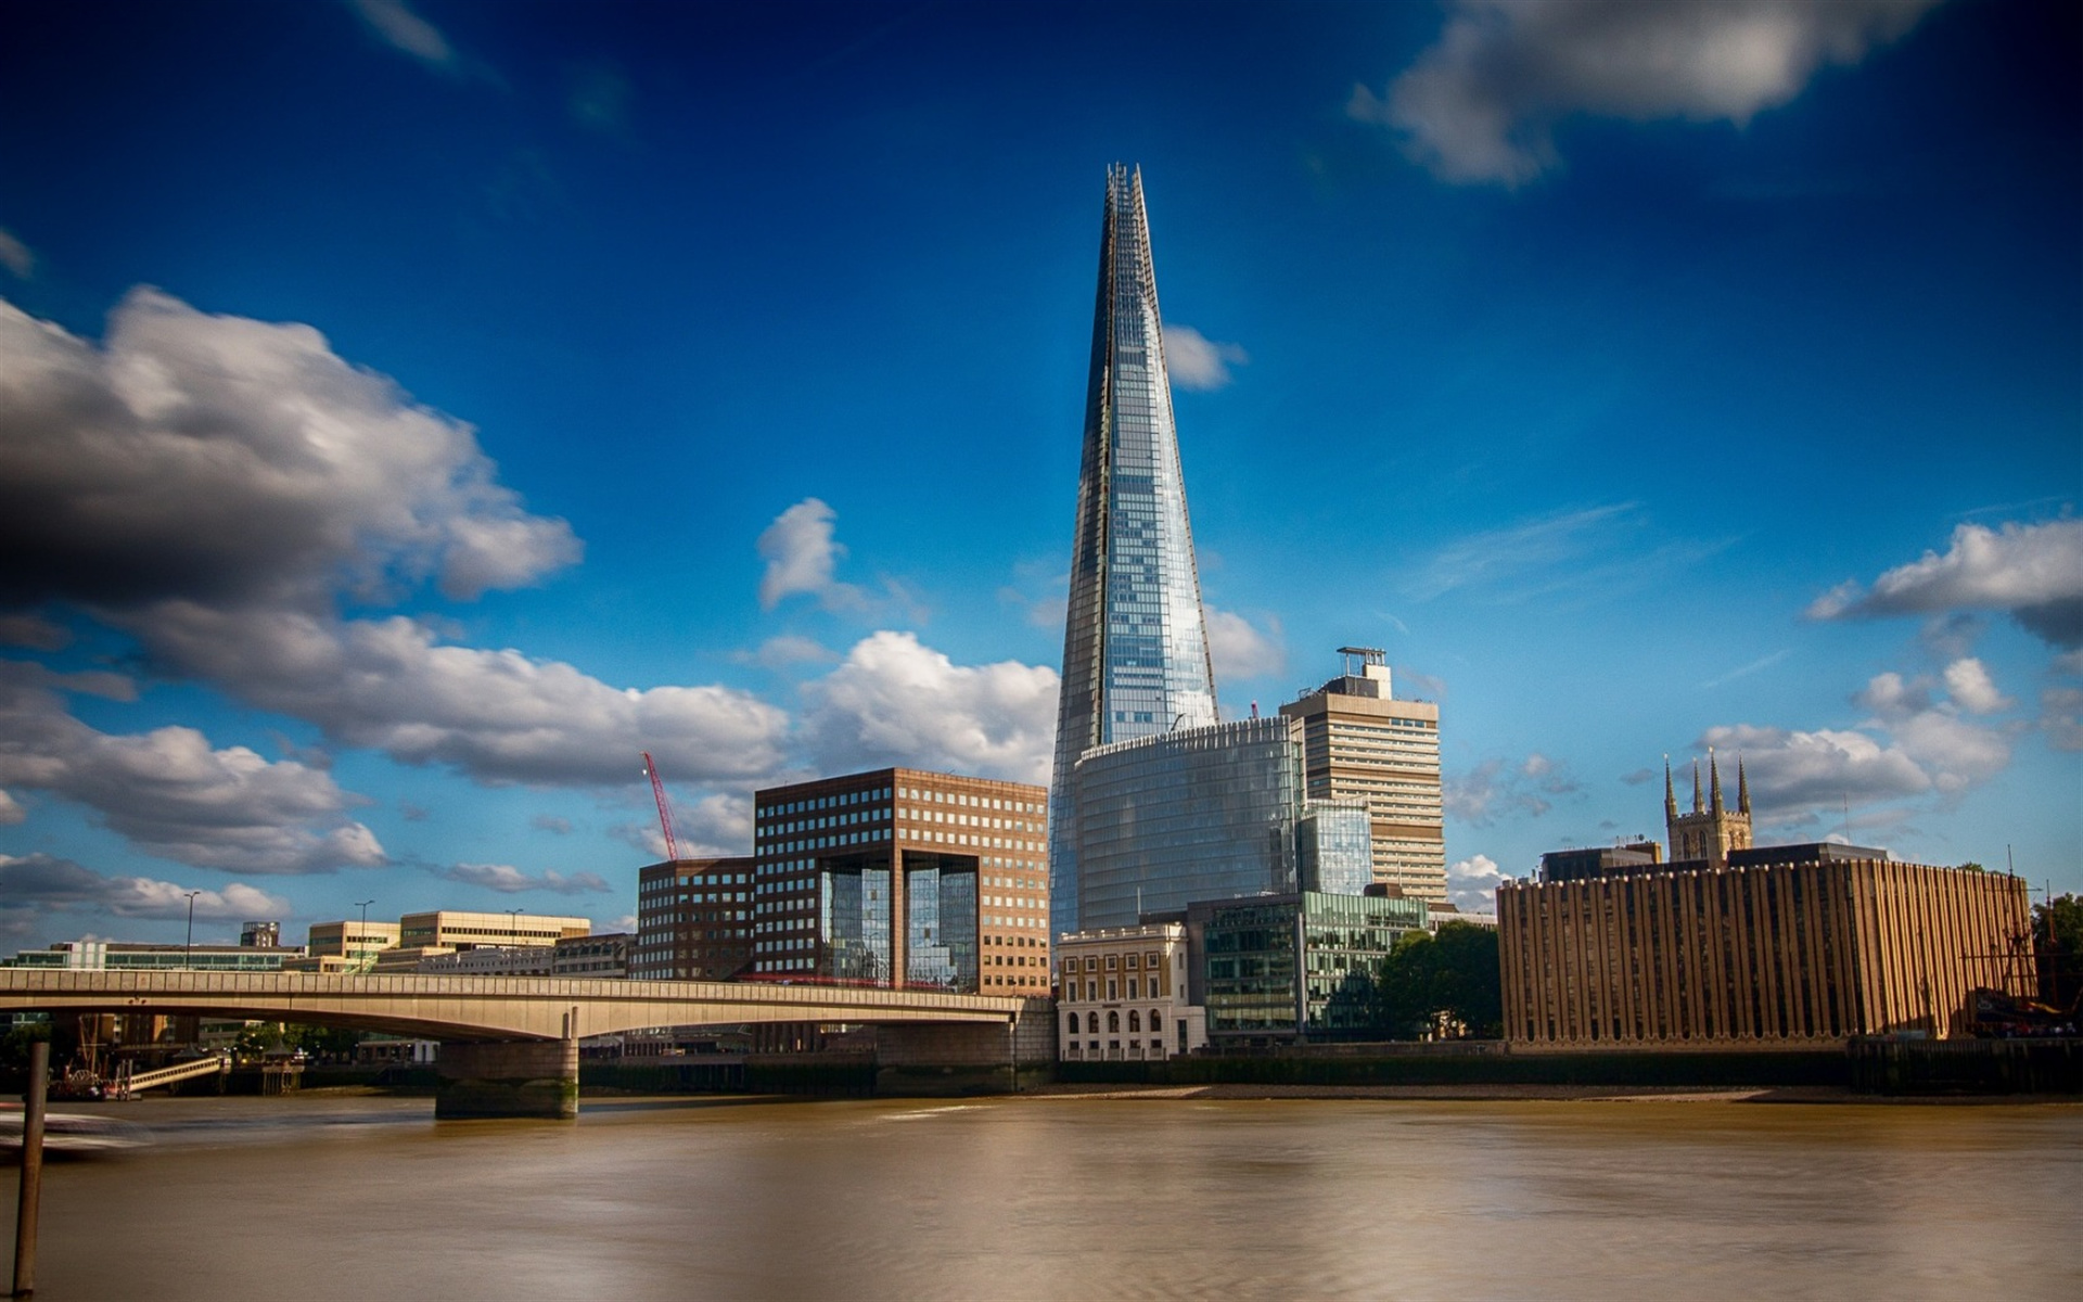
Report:
M 1835 848 L 1831 848 L 1835 850 Z M 1816 846 L 1498 890 L 1504 1033 L 1527 1048 L 1806 1048 L 1966 1029 L 2031 994 L 2025 883 Z

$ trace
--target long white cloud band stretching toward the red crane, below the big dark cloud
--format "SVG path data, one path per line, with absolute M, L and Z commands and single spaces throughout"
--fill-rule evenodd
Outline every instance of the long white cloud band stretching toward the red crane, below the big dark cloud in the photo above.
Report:
M 685 779 L 764 773 L 787 717 L 731 687 L 610 687 L 560 660 L 446 646 L 421 621 L 160 602 L 119 621 L 154 665 L 348 746 L 485 783 L 619 785 L 637 750 Z

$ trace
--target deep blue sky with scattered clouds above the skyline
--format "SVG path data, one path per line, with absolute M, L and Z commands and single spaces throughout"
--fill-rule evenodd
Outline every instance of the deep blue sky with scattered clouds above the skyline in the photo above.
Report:
M 15 4 L 0 946 L 633 910 L 1046 779 L 1102 171 L 1229 712 L 1389 650 L 1448 856 L 2083 890 L 2075 6 Z

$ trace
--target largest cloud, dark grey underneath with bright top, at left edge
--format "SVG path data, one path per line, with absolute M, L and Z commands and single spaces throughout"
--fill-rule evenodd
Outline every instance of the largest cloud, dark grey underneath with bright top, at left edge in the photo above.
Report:
M 450 596 L 579 558 L 469 425 L 308 325 L 133 290 L 104 344 L 0 302 L 0 602 L 317 608 L 435 577 Z

